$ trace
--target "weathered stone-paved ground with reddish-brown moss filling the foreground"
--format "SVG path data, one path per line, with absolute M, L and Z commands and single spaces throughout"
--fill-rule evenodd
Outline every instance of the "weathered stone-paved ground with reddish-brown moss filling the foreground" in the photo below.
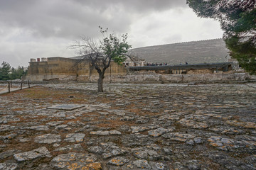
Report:
M 0 96 L 0 169 L 256 169 L 255 84 L 47 84 Z M 48 109 L 82 105 L 73 111 Z

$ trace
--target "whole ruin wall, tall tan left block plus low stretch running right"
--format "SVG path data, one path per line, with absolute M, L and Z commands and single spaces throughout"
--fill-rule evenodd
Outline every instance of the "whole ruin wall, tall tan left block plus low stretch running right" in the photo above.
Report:
M 50 57 L 43 62 L 30 62 L 26 79 L 31 81 L 80 81 L 97 82 L 97 71 L 89 64 L 82 62 L 73 68 L 76 60 L 63 57 Z M 215 81 L 245 81 L 248 75 L 245 73 L 215 73 L 213 69 L 194 69 L 177 73 L 166 72 L 128 72 L 127 69 L 112 62 L 106 70 L 105 82 L 215 82 Z

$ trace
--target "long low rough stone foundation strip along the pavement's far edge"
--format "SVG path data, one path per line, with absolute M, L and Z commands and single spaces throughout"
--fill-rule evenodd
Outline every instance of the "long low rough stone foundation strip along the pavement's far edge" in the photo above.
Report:
M 43 81 L 78 81 L 78 82 L 97 82 L 97 75 L 41 75 Z M 30 77 L 31 81 L 38 80 L 40 75 Z M 256 80 L 256 77 L 246 73 L 233 74 L 156 74 L 151 72 L 130 72 L 128 74 L 105 75 L 105 82 L 145 82 L 145 83 L 215 83 L 246 81 L 247 79 Z

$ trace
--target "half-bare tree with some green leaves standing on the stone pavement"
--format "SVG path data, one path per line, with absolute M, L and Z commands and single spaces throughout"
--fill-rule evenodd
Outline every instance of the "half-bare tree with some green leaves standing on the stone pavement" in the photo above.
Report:
M 127 34 L 118 37 L 114 33 L 108 34 L 107 29 L 103 30 L 100 26 L 99 28 L 103 35 L 102 40 L 82 36 L 82 40 L 76 41 L 71 47 L 77 49 L 81 56 L 76 64 L 89 60 L 92 67 L 97 70 L 99 74 L 97 91 L 102 92 L 106 69 L 110 67 L 112 61 L 122 64 L 129 57 L 127 52 L 132 46 L 127 42 Z

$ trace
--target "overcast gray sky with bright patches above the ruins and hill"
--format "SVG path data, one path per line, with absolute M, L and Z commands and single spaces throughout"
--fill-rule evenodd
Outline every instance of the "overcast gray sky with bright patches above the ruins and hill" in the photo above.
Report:
M 98 38 L 98 26 L 128 33 L 133 48 L 223 35 L 186 0 L 0 0 L 0 62 L 27 67 L 31 58 L 73 57 L 68 46 L 81 35 Z

